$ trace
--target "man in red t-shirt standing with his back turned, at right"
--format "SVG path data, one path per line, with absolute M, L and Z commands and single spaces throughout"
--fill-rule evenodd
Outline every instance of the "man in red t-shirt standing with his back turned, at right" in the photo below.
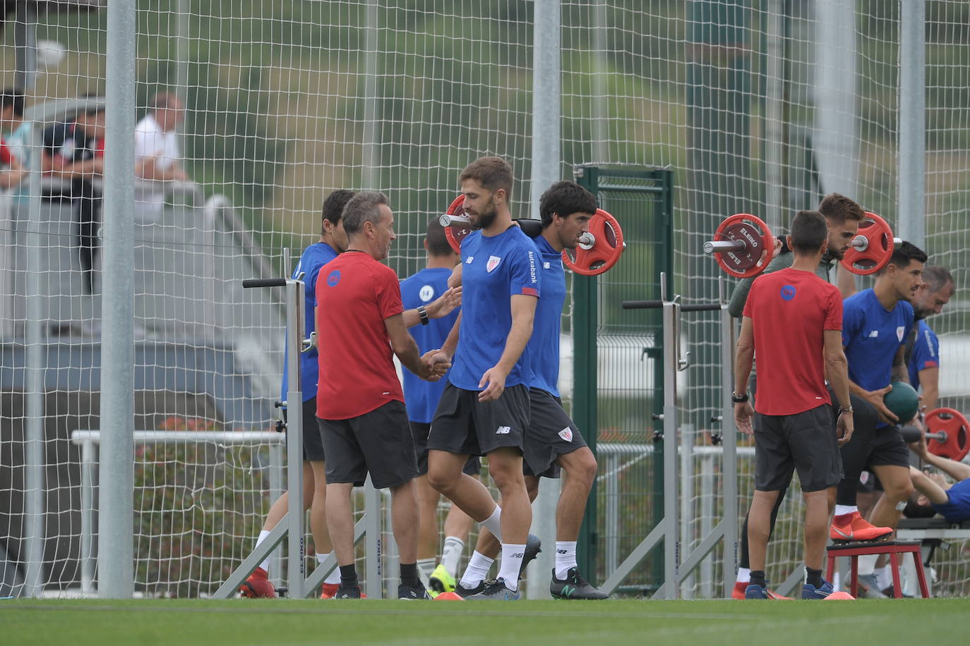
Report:
M 853 432 L 848 362 L 842 352 L 842 295 L 815 275 L 828 246 L 828 229 L 818 211 L 800 211 L 792 221 L 792 267 L 759 276 L 744 307 L 734 366 L 734 420 L 755 436 L 755 497 L 748 512 L 751 582 L 746 599 L 768 599 L 764 559 L 771 509 L 778 492 L 798 472 L 805 498 L 805 585 L 802 599 L 832 592 L 822 578 L 828 529 L 827 490 L 842 479 L 838 447 Z M 748 401 L 754 359 L 758 366 L 758 409 Z M 838 399 L 832 428 L 825 376 Z

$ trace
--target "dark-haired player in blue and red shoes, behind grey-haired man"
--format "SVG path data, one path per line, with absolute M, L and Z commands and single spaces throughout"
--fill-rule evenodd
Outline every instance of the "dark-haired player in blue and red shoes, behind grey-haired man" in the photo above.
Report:
M 323 222 L 320 239 L 309 245 L 300 256 L 300 261 L 293 270 L 293 278 L 304 274 L 305 299 L 304 324 L 307 337 L 316 329 L 316 277 L 320 268 L 327 262 L 337 258 L 338 254 L 347 249 L 347 234 L 343 231 L 343 207 L 354 197 L 352 191 L 338 190 L 331 193 L 323 202 Z M 286 353 L 283 353 L 286 356 Z M 333 550 L 330 534 L 327 532 L 327 516 L 325 502 L 327 497 L 327 482 L 324 470 L 323 443 L 316 424 L 316 386 L 319 378 L 316 346 L 306 353 L 300 354 L 300 373 L 303 389 L 303 444 L 304 444 L 304 504 L 309 506 L 309 529 L 313 535 L 313 547 L 319 563 L 329 556 Z M 286 360 L 283 361 L 283 384 L 280 401 L 286 401 L 289 390 Z M 286 415 L 285 409 L 283 415 Z M 286 515 L 289 499 L 284 492 L 276 499 L 273 507 L 266 516 L 263 530 L 256 539 L 256 545 L 270 535 L 276 523 Z M 273 585 L 269 582 L 267 571 L 270 559 L 266 559 L 260 567 L 249 575 L 240 587 L 243 597 L 275 597 Z M 337 592 L 340 583 L 340 571 L 334 569 L 324 580 L 322 598 L 329 599 Z

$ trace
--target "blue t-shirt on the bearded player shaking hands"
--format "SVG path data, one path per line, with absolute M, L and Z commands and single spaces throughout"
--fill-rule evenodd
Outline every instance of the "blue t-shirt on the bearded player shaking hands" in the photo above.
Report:
M 462 323 L 448 380 L 465 390 L 499 362 L 512 327 L 511 297 L 538 298 L 539 259 L 533 239 L 516 226 L 498 235 L 472 231 L 462 240 Z M 505 386 L 531 385 L 532 369 L 523 352 Z

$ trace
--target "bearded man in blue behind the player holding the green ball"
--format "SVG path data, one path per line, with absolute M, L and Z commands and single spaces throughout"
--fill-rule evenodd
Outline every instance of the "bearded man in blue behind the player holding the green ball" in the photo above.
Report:
M 906 337 L 906 365 L 910 384 L 922 390 L 921 409 L 932 411 L 940 398 L 940 341 L 926 317 L 939 314 L 954 295 L 954 277 L 940 265 L 922 270 L 922 287 L 913 299 L 916 333 Z

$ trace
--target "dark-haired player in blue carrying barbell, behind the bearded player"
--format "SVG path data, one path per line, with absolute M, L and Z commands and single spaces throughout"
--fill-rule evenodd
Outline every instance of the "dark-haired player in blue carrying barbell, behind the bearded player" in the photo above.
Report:
M 566 271 L 563 250 L 575 249 L 579 236 L 589 231 L 597 211 L 592 193 L 571 181 L 553 184 L 539 200 L 542 234 L 535 238 L 542 263 L 542 295 L 535 307 L 533 336 L 526 353 L 533 368 L 529 388 L 531 420 L 525 438 L 526 486 L 530 500 L 539 491 L 539 477 L 559 477 L 566 472 L 556 510 L 556 567 L 549 592 L 556 599 L 608 599 L 580 574 L 576 564 L 576 540 L 586 510 L 586 500 L 597 476 L 597 459 L 575 422 L 563 410 L 559 397 L 559 337 L 566 302 Z M 499 541 L 489 532 L 478 535 L 478 544 L 462 576 L 458 593 L 474 594 L 499 552 Z M 463 595 L 464 596 L 464 595 Z

